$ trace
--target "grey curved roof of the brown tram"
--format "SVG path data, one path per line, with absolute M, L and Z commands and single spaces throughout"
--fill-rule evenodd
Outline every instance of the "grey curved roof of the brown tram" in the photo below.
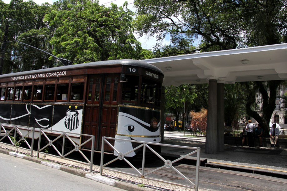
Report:
M 74 64 L 74 65 L 69 65 L 69 66 L 58 66 L 58 67 L 54 67 L 54 68 L 46 68 L 46 69 L 39 69 L 39 70 L 32 70 L 32 71 L 23 71 L 23 72 L 16 72 L 16 73 L 10 73 L 10 74 L 2 74 L 2 75 L 0 75 L 0 78 L 11 77 L 11 76 L 20 76 L 20 75 L 28 75 L 28 74 L 37 74 L 37 73 L 43 73 L 43 72 L 55 72 L 55 71 L 63 71 L 63 70 L 85 69 L 85 68 L 91 68 L 91 67 L 118 66 L 118 65 L 143 67 L 146 69 L 151 69 L 151 70 L 157 71 L 163 75 L 163 72 L 159 68 L 157 68 L 156 66 L 153 66 L 149 63 L 146 63 L 144 61 L 109 60 L 109 61 L 89 62 L 89 63 L 83 63 L 83 64 Z

